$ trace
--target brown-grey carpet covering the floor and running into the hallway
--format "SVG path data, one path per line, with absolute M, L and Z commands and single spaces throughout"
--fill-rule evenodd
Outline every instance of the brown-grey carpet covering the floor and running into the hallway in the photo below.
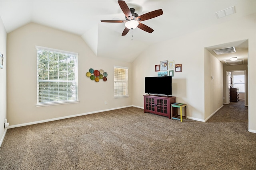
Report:
M 255 170 L 256 134 L 244 101 L 207 122 L 128 107 L 8 129 L 2 170 Z

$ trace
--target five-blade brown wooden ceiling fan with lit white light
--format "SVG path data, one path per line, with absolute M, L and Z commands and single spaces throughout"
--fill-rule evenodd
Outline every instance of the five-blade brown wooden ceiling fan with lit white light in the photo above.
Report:
M 129 9 L 127 4 L 124 1 L 118 0 L 117 2 L 120 8 L 122 9 L 122 11 L 124 12 L 126 20 L 123 20 L 123 21 L 122 20 L 101 20 L 101 22 L 125 23 L 126 27 L 124 28 L 122 36 L 126 35 L 130 31 L 130 29 L 134 29 L 136 27 L 148 33 L 152 33 L 154 30 L 148 27 L 147 25 L 141 23 L 141 21 L 149 20 L 151 18 L 155 18 L 164 14 L 163 11 L 160 9 L 160 10 L 155 10 L 155 11 L 143 14 L 141 16 L 138 16 L 138 14 L 135 13 L 135 9 L 134 8 Z

